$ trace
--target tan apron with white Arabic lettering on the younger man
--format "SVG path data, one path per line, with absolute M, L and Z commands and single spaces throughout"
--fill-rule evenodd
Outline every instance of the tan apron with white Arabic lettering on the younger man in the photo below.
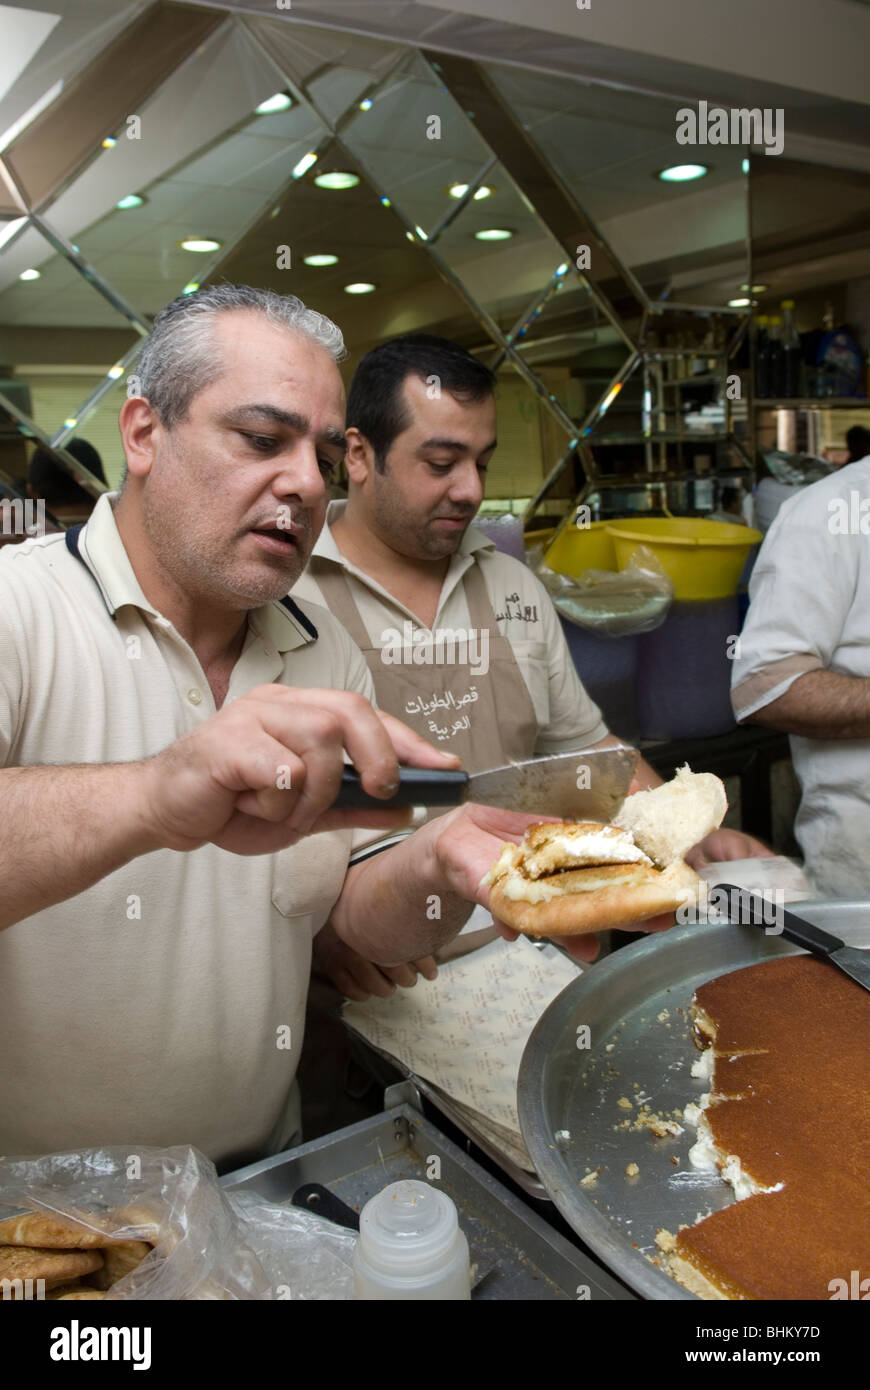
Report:
M 479 674 L 471 670 L 468 660 L 456 660 L 461 651 L 459 642 L 450 644 L 452 651 L 446 653 L 443 646 L 431 648 L 438 656 L 431 664 L 402 660 L 385 664 L 381 646 L 372 645 L 368 637 L 342 567 L 324 556 L 313 556 L 310 570 L 327 607 L 363 652 L 381 709 L 409 724 L 427 742 L 457 753 L 468 773 L 534 756 L 538 720 L 532 698 L 510 642 L 499 632 L 477 563 L 464 574 L 463 585 L 471 628 L 477 634 L 488 632 L 488 669 Z M 414 626 L 417 631 L 422 628 L 420 623 Z M 454 659 L 445 662 L 445 655 Z

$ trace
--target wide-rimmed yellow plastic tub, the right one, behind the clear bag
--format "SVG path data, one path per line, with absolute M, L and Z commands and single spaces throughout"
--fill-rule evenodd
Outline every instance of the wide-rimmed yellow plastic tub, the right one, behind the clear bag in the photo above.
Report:
M 674 584 L 677 599 L 725 599 L 737 585 L 760 531 L 693 517 L 642 517 L 609 521 L 607 531 L 624 570 L 639 545 L 649 546 Z

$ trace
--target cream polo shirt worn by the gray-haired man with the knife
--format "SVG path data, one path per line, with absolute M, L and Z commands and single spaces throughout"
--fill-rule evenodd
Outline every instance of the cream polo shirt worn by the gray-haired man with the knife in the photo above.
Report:
M 136 581 L 114 496 L 81 532 L 90 574 L 63 535 L 0 550 L 0 766 L 132 762 L 215 712 Z M 343 628 L 299 613 L 249 613 L 228 701 L 270 681 L 372 696 Z M 311 937 L 368 840 L 164 849 L 1 931 L 0 1154 L 189 1143 L 235 1166 L 279 1150 L 297 1126 Z

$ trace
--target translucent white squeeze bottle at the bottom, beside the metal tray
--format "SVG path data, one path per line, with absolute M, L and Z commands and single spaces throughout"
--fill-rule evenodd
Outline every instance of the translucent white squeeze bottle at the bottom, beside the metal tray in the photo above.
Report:
M 468 1241 L 456 1207 L 428 1183 L 391 1183 L 360 1213 L 357 1298 L 471 1298 Z

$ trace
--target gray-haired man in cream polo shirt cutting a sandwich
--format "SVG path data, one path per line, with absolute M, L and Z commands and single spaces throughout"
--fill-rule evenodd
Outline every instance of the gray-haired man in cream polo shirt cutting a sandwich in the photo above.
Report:
M 403 816 L 331 810 L 345 755 L 381 796 L 399 760 L 456 764 L 286 596 L 345 449 L 342 350 L 290 296 L 174 300 L 121 495 L 0 553 L 0 1152 L 286 1147 L 314 934 L 425 956 L 532 819 L 466 806 L 372 853 Z

